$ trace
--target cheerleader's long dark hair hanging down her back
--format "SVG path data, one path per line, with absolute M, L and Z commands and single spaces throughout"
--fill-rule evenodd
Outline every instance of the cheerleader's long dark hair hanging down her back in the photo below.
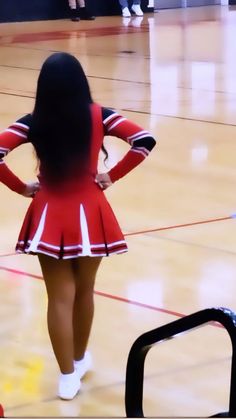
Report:
M 89 84 L 72 55 L 52 54 L 38 78 L 29 139 L 47 181 L 64 179 L 73 168 L 86 168 L 91 143 Z

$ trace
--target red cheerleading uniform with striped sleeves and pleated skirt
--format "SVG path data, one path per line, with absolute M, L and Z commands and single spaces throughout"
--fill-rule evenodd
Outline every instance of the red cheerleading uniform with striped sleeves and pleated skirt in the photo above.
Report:
M 98 155 L 105 135 L 119 137 L 129 151 L 109 172 L 112 183 L 141 163 L 155 145 L 154 138 L 114 110 L 91 105 L 92 139 L 89 170 L 47 186 L 39 174 L 41 189 L 28 208 L 16 244 L 20 253 L 44 253 L 57 259 L 79 256 L 109 256 L 127 251 L 127 244 L 103 190 L 95 183 Z M 22 194 L 22 182 L 3 158 L 14 148 L 29 142 L 32 116 L 26 115 L 0 134 L 0 181 Z M 79 135 L 78 135 L 79 141 Z

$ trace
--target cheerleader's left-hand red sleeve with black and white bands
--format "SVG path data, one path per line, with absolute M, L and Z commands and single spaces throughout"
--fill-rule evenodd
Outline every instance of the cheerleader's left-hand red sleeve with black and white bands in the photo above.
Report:
M 0 134 L 0 182 L 19 194 L 24 191 L 26 184 L 9 169 L 4 161 L 4 157 L 14 148 L 28 142 L 29 126 L 25 123 L 26 118 L 15 122 Z

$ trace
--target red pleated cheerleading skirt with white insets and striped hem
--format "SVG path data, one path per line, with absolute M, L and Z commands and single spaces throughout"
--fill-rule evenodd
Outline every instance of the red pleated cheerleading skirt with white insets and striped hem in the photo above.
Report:
M 16 245 L 19 253 L 70 259 L 127 251 L 117 219 L 94 182 L 36 194 Z

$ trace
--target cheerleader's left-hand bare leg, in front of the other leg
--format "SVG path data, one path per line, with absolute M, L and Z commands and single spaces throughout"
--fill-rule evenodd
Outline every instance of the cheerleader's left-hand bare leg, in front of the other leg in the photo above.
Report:
M 48 294 L 48 331 L 63 374 L 74 371 L 73 305 L 76 285 L 71 260 L 38 255 Z

